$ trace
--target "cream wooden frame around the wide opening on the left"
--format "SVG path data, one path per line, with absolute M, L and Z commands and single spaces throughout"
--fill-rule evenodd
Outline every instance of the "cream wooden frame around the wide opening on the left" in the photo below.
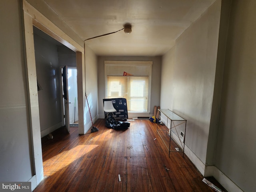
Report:
M 72 38 L 65 34 L 60 28 L 43 16 L 38 10 L 23 0 L 23 19 L 24 19 L 24 40 L 26 50 L 26 78 L 28 86 L 28 112 L 30 115 L 30 129 L 32 136 L 34 176 L 30 179 L 32 190 L 43 180 L 43 161 L 42 144 L 40 133 L 39 105 L 36 81 L 36 61 L 34 50 L 33 26 L 36 26 L 52 38 L 58 40 L 66 47 L 76 52 L 76 64 L 78 73 L 78 113 L 79 122 L 84 122 L 84 98 L 85 98 L 85 64 L 84 47 L 76 43 Z M 79 125 L 79 134 L 84 134 L 84 124 Z

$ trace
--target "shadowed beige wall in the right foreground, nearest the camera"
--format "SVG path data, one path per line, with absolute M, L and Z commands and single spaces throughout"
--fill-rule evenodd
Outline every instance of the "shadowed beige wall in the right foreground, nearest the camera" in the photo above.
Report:
M 256 189 L 256 2 L 232 1 L 216 167 L 242 190 Z

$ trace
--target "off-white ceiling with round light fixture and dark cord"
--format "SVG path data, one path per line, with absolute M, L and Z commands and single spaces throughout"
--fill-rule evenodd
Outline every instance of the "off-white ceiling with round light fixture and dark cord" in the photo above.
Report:
M 101 56 L 158 56 L 215 0 L 42 0 Z

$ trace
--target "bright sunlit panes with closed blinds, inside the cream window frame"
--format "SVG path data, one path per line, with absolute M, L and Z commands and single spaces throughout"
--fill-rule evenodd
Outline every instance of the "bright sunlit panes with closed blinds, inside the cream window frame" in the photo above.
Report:
M 148 112 L 148 76 L 108 76 L 107 98 L 126 98 L 130 112 Z

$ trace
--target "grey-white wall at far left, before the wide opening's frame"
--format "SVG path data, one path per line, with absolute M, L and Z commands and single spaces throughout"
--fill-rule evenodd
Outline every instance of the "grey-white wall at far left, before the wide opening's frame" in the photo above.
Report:
M 20 1 L 0 1 L 0 181 L 34 175 Z

